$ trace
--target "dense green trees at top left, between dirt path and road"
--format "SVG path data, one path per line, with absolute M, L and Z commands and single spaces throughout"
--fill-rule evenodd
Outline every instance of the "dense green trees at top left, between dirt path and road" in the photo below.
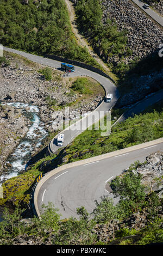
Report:
M 4 46 L 34 54 L 55 54 L 102 69 L 71 31 L 64 0 L 2 0 L 0 41 Z

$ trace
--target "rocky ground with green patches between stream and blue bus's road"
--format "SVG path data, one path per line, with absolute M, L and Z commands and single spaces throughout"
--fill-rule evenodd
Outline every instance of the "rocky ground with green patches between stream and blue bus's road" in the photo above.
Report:
M 86 99 L 85 95 L 72 92 L 72 78 L 63 78 L 61 71 L 53 70 L 53 80 L 46 81 L 39 73 L 39 69 L 45 66 L 27 64 L 26 59 L 9 53 L 5 53 L 5 56 L 10 60 L 10 65 L 0 69 L 0 100 L 34 103 L 39 107 L 39 116 L 48 131 L 54 131 L 52 120 L 60 122 L 56 111 L 64 114 L 64 108 L 70 106 L 70 118 L 75 118 L 78 114 L 95 109 L 103 99 L 104 90 L 100 85 L 99 92 Z

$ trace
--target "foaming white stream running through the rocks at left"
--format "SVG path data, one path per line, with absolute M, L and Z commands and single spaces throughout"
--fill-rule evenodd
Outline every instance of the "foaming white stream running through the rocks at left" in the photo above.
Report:
M 39 112 L 39 108 L 37 106 L 21 102 L 3 103 L 2 105 L 22 109 L 22 113 L 30 119 L 32 125 L 28 127 L 29 130 L 26 136 L 21 139 L 20 144 L 18 144 L 14 152 L 8 157 L 7 163 L 10 163 L 11 167 L 8 168 L 8 172 L 5 172 L 0 176 L 0 184 L 5 180 L 17 176 L 23 170 L 26 170 L 26 164 L 31 158 L 30 152 L 35 148 L 39 148 L 42 144 L 42 140 L 48 135 L 47 131 L 43 127 L 43 122 L 40 121 L 40 118 L 37 115 Z M 39 136 L 36 133 L 39 133 Z

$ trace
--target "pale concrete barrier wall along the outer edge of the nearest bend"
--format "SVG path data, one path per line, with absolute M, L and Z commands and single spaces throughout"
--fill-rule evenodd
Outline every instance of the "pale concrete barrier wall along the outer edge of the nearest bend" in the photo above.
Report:
M 57 173 L 61 172 L 62 170 L 66 170 L 68 168 L 81 166 L 83 164 L 103 160 L 103 159 L 113 157 L 113 156 L 117 156 L 117 155 L 126 154 L 126 153 L 129 153 L 131 151 L 146 148 L 146 147 L 151 147 L 152 145 L 159 144 L 159 143 L 162 143 L 162 142 L 163 142 L 163 138 L 155 139 L 154 141 L 145 142 L 145 143 L 142 143 L 142 144 L 134 145 L 134 146 L 129 147 L 129 148 L 116 150 L 116 151 L 106 153 L 106 154 L 103 154 L 103 155 L 99 155 L 99 156 L 94 156 L 94 157 L 91 157 L 89 159 L 84 159 L 84 160 L 80 160 L 80 161 L 76 161 L 76 162 L 72 162 L 72 163 L 67 163 L 67 164 L 64 164 L 63 166 L 60 166 L 56 169 L 51 170 L 51 172 L 49 172 L 45 176 L 43 176 L 43 178 L 39 181 L 39 183 L 37 184 L 37 186 L 35 188 L 35 191 L 34 191 L 34 206 L 35 206 L 35 211 L 36 211 L 37 216 L 41 217 L 39 207 L 38 207 L 38 204 L 37 204 L 37 196 L 39 194 L 40 188 L 44 184 L 44 182 L 47 181 L 49 178 L 51 178 L 54 174 L 57 174 Z

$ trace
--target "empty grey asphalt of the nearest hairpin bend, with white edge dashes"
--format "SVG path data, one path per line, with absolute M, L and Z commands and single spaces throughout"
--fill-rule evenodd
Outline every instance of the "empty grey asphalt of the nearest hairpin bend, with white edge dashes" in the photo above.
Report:
M 76 208 L 85 206 L 88 212 L 95 208 L 95 200 L 101 196 L 110 196 L 106 184 L 122 170 L 127 169 L 131 163 L 139 160 L 143 162 L 149 154 L 163 149 L 163 143 L 151 147 L 131 151 L 109 159 L 84 164 L 82 166 L 66 169 L 53 175 L 45 181 L 40 188 L 37 202 L 41 212 L 42 204 L 52 202 L 59 209 L 61 218 L 78 217 Z M 114 199 L 117 202 L 117 199 Z

